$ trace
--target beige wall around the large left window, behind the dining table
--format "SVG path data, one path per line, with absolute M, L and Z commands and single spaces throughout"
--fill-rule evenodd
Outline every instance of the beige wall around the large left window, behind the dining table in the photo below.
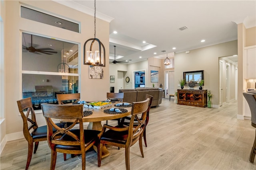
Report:
M 1 1 L 2 2 L 2 1 Z M 84 42 L 94 37 L 94 18 L 78 12 L 72 8 L 62 6 L 53 1 L 5 1 L 6 2 L 6 21 L 5 21 L 5 117 L 6 134 L 22 131 L 22 119 L 18 113 L 17 100 L 22 98 L 21 89 L 21 31 L 37 33 L 47 37 L 73 41 L 79 44 L 80 59 L 80 93 L 81 99 L 104 100 L 106 92 L 109 91 L 109 23 L 96 19 L 96 38 L 104 44 L 106 48 L 106 67 L 104 70 L 104 79 L 89 79 L 89 66 L 83 65 L 83 45 Z M 57 14 L 62 17 L 70 18 L 81 23 L 81 33 L 61 29 L 51 25 L 46 25 L 32 20 L 20 18 L 20 3 L 39 8 L 46 12 Z M 2 8 L 2 7 L 1 7 Z M 2 9 L 1 9 L 2 15 Z M 104 29 L 100 29 L 104 28 Z M 40 64 L 40 63 L 39 63 Z M 94 88 L 97 85 L 100 88 Z M 105 85 L 104 85 L 105 84 Z M 2 94 L 1 94 L 2 96 Z M 37 114 L 38 125 L 45 125 L 42 114 Z

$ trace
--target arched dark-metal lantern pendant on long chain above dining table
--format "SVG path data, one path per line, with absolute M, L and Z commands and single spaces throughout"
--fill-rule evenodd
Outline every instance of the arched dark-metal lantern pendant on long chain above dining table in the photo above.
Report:
M 90 50 L 86 51 L 86 43 L 88 43 L 89 41 L 92 41 L 90 45 Z M 95 41 L 98 42 L 99 47 L 93 52 L 92 46 Z M 96 38 L 96 0 L 94 0 L 94 38 L 90 38 L 84 43 L 84 64 L 90 66 L 105 66 L 105 54 L 106 53 L 104 45 L 100 42 L 98 38 Z

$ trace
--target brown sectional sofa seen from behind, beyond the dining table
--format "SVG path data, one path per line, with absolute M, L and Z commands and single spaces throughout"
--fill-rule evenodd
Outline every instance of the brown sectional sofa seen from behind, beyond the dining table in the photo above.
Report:
M 128 103 L 143 101 L 146 94 L 153 96 L 151 107 L 162 103 L 163 90 L 158 88 L 120 89 L 119 93 L 124 93 L 123 101 Z

